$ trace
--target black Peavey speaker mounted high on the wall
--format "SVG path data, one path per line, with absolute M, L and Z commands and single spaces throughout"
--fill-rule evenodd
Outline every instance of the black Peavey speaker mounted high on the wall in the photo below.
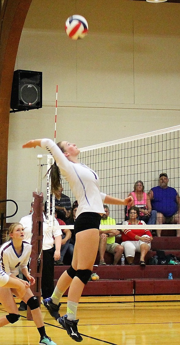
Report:
M 42 108 L 42 72 L 14 71 L 10 107 L 20 111 Z

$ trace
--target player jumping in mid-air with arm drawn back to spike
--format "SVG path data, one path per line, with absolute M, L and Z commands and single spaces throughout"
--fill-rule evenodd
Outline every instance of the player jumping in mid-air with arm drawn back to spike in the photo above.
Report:
M 40 146 L 47 149 L 55 159 L 56 172 L 51 173 L 52 193 L 61 184 L 61 175 L 68 181 L 70 188 L 78 202 L 74 230 L 76 242 L 72 265 L 59 278 L 54 293 L 50 298 L 43 300 L 45 307 L 51 312 L 56 306 L 59 310 L 60 299 L 69 287 L 67 298 L 67 314 L 57 321 L 66 329 L 68 335 L 76 342 L 83 340 L 77 330 L 76 311 L 84 285 L 92 274 L 99 245 L 99 225 L 104 214 L 103 203 L 114 205 L 129 205 L 132 197 L 117 199 L 99 190 L 99 178 L 92 169 L 78 162 L 80 150 L 75 144 L 62 141 L 57 145 L 51 139 L 31 140 L 23 148 Z M 52 171 L 51 171 L 52 172 Z M 56 181 L 56 182 L 55 182 Z

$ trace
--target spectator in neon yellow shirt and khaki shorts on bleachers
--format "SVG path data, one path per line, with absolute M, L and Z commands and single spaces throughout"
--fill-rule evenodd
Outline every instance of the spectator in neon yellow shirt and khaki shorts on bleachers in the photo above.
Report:
M 104 205 L 105 214 L 103 214 L 100 221 L 101 225 L 115 225 L 116 221 L 109 217 L 109 207 Z M 100 229 L 99 230 L 99 265 L 106 265 L 104 261 L 104 253 L 108 252 L 114 255 L 113 265 L 117 265 L 123 254 L 123 247 L 115 243 L 115 236 L 119 235 L 120 231 L 117 229 Z

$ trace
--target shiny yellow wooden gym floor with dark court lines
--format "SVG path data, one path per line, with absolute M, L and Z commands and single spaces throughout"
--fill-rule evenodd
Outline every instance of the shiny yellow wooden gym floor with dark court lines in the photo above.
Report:
M 165 296 L 164 296 L 165 297 Z M 180 302 L 98 302 L 80 303 L 78 331 L 82 344 L 91 345 L 152 345 L 180 343 Z M 19 306 L 19 305 L 18 305 Z M 66 313 L 66 303 L 61 305 Z M 46 333 L 57 345 L 75 344 L 66 331 L 41 306 Z M 0 316 L 7 314 L 0 305 Z M 2 327 L 1 345 L 37 345 L 39 333 L 26 312 L 20 312 L 16 324 Z

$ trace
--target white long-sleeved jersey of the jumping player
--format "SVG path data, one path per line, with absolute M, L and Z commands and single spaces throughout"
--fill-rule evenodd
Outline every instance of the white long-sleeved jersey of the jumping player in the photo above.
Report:
M 81 163 L 69 161 L 51 139 L 42 139 L 41 147 L 54 157 L 62 176 L 68 181 L 78 202 L 76 218 L 83 212 L 105 213 L 103 202 L 106 194 L 99 190 L 99 177 L 95 171 Z

